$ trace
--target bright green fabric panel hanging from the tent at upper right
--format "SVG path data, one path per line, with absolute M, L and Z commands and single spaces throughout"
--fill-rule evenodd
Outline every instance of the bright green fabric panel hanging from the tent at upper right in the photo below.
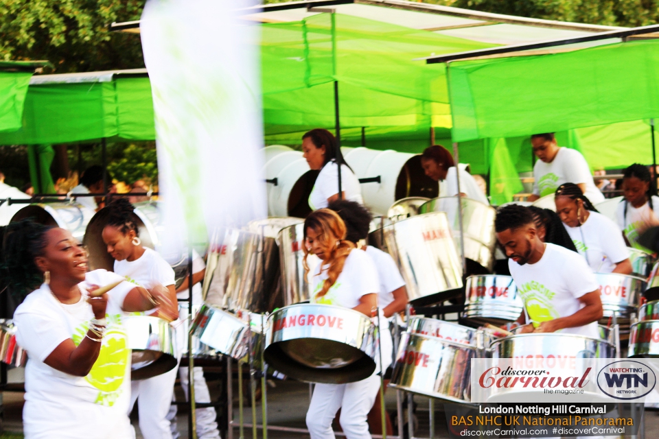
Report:
M 659 115 L 659 41 L 452 62 L 454 141 L 514 137 Z

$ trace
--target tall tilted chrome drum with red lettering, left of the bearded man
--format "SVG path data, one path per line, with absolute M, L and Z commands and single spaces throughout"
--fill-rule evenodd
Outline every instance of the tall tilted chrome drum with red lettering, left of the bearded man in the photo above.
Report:
M 411 302 L 441 302 L 462 293 L 462 264 L 446 213 L 395 222 L 384 227 L 384 239 L 405 279 Z

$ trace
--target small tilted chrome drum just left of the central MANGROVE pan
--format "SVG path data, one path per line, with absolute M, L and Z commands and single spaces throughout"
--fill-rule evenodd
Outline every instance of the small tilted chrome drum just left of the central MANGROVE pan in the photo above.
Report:
M 190 330 L 201 343 L 233 359 L 242 359 L 248 355 L 250 344 L 253 353 L 260 350 L 262 320 L 263 316 L 257 313 L 233 314 L 204 304 Z

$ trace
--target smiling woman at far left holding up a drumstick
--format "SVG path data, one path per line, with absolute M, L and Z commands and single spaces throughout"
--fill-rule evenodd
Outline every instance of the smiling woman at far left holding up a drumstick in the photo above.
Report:
M 176 313 L 166 289 L 148 291 L 106 270 L 87 272 L 86 254 L 68 230 L 30 221 L 8 226 L 2 259 L 12 292 L 32 291 L 14 313 L 16 340 L 30 358 L 25 438 L 132 437 L 122 317 L 154 303 L 163 304 L 163 313 Z M 106 294 L 91 297 L 99 285 L 113 283 Z

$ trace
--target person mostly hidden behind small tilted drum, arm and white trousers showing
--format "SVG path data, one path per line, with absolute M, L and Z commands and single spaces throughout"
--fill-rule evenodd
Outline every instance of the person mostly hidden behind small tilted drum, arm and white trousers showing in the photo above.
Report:
M 206 264 L 204 259 L 199 256 L 199 254 L 193 250 L 192 251 L 192 304 L 195 309 L 198 309 L 199 305 L 203 303 L 203 298 L 201 295 L 201 283 L 204 280 L 206 275 Z M 179 315 L 181 320 L 194 318 L 194 316 L 189 315 L 189 306 L 181 306 L 183 302 L 189 298 L 189 277 L 185 277 L 185 281 L 181 284 L 178 289 L 176 289 L 176 298 L 179 301 Z M 183 326 L 183 325 L 182 325 Z M 184 334 L 187 337 L 187 334 Z M 185 342 L 187 346 L 187 341 Z M 178 368 L 178 379 L 181 380 L 181 387 L 185 393 L 186 401 L 189 400 L 189 380 L 188 380 L 188 368 L 185 366 L 180 366 Z M 198 403 L 210 403 L 211 394 L 208 390 L 208 384 L 204 377 L 204 369 L 201 367 L 194 368 L 194 399 Z M 176 401 L 174 398 L 172 401 Z M 167 419 L 172 423 L 172 439 L 178 439 L 181 434 L 178 433 L 176 426 L 176 404 L 172 404 L 170 412 L 167 414 Z M 218 431 L 217 423 L 218 414 L 214 407 L 205 407 L 198 408 L 196 410 L 196 427 L 197 427 L 197 437 L 199 439 L 220 439 L 220 431 Z

